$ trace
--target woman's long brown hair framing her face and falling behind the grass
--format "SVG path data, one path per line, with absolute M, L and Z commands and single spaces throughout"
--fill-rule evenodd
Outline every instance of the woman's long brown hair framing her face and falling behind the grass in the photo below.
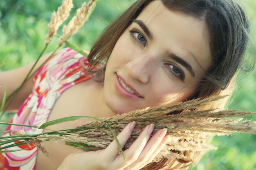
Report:
M 152 1 L 137 0 L 103 31 L 88 56 L 90 68 L 108 61 L 121 34 Z M 212 65 L 206 71 L 191 99 L 230 95 L 238 68 L 245 68 L 242 65 L 250 26 L 243 8 L 234 0 L 162 0 L 162 3 L 170 10 L 181 11 L 204 20 L 209 29 Z M 254 64 L 247 70 L 251 70 L 253 66 Z M 228 97 L 219 100 L 218 103 L 211 103 L 207 108 L 224 109 L 227 99 Z M 173 161 L 162 159 L 148 164 L 144 169 L 187 169 L 192 163 L 198 162 L 203 154 L 189 150 L 173 152 L 180 152 L 186 156 L 186 159 Z

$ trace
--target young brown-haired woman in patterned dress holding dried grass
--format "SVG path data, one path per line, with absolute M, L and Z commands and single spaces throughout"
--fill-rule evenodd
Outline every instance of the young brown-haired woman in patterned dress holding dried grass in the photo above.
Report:
M 40 125 L 72 115 L 110 117 L 148 106 L 230 94 L 231 81 L 243 64 L 248 32 L 245 13 L 233 0 L 138 0 L 106 28 L 88 60 L 72 49 L 63 49 L 39 68 L 17 97 L 27 97 L 32 89 L 13 123 Z M 88 75 L 88 70 L 99 69 L 97 65 L 102 62 L 106 62 L 103 70 Z M 1 73 L 0 82 L 4 82 L 19 71 L 17 82 L 6 82 L 8 93 L 24 79 L 29 67 Z M 208 107 L 223 109 L 226 101 Z M 11 108 L 19 104 L 16 100 Z M 85 121 L 89 119 L 51 129 L 74 128 Z M 131 122 L 118 135 L 121 145 L 134 126 Z M 7 129 L 25 130 L 27 134 L 42 132 L 16 126 Z M 146 126 L 124 151 L 130 170 L 144 166 L 150 170 L 186 169 L 200 159 L 200 152 L 182 152 L 191 159 L 150 163 L 169 139 L 166 129 L 149 139 L 153 129 L 153 124 Z M 59 141 L 47 141 L 44 146 L 52 158 L 31 148 L 3 154 L 2 167 L 128 170 L 115 141 L 94 152 L 81 152 Z

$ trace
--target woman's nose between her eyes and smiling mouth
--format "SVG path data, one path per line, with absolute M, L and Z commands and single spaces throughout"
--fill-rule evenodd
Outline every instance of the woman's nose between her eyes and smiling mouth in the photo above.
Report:
M 127 74 L 130 78 L 148 83 L 154 70 L 157 69 L 156 65 L 156 59 L 153 57 L 136 57 L 126 64 Z

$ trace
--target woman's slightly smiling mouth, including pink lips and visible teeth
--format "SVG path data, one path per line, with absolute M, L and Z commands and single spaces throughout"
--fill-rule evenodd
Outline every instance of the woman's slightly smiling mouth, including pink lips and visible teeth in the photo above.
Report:
M 143 98 L 139 95 L 139 93 L 132 88 L 132 86 L 128 85 L 124 82 L 119 75 L 116 74 L 116 83 L 115 83 L 117 91 L 122 95 L 129 97 L 129 98 Z

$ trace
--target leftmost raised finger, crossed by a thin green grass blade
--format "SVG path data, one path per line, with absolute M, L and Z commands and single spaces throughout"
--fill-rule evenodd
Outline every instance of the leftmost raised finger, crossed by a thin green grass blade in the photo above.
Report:
M 126 144 L 126 141 L 129 139 L 130 135 L 132 134 L 132 130 L 135 127 L 136 122 L 130 122 L 120 133 L 117 135 L 117 139 L 119 141 L 119 144 L 121 145 L 121 148 L 124 147 Z M 117 153 L 119 152 L 119 148 L 117 145 L 117 141 L 113 140 L 109 146 L 104 150 L 104 155 L 107 155 L 107 157 L 111 160 L 115 159 L 117 156 Z

